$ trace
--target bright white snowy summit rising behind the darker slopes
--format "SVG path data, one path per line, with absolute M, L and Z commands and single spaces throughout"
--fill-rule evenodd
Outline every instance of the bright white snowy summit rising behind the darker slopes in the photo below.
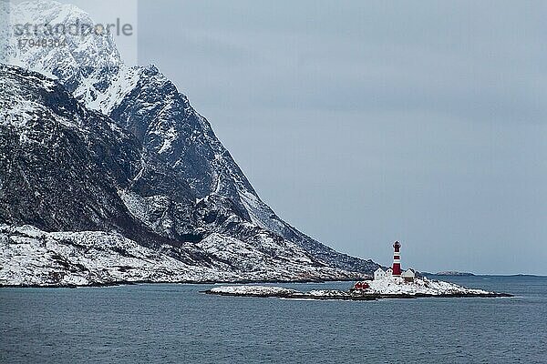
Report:
M 5 2 L 8 3 L 8 2 Z M 9 19 L 12 26 L 3 25 L 5 39 L 8 39 L 7 61 L 39 71 L 46 76 L 58 77 L 67 90 L 87 103 L 100 104 L 107 89 L 114 82 L 113 75 L 125 78 L 127 71 L 120 72 L 123 62 L 112 36 L 94 33 L 80 35 L 65 32 L 61 38 L 64 46 L 20 46 L 21 38 L 29 38 L 26 31 L 19 35 L 14 25 L 95 25 L 91 17 L 75 5 L 56 1 L 25 1 L 20 4 L 9 2 L 8 12 L 3 19 Z M 35 38 L 45 38 L 48 28 L 38 26 Z M 103 97 L 99 97 L 103 95 Z

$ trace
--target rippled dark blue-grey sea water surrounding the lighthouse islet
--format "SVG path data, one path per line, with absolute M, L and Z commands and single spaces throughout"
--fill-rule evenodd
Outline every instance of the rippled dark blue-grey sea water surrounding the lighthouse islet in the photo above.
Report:
M 1 288 L 0 362 L 547 363 L 547 278 L 443 279 L 517 297 L 314 301 L 199 293 L 212 285 Z

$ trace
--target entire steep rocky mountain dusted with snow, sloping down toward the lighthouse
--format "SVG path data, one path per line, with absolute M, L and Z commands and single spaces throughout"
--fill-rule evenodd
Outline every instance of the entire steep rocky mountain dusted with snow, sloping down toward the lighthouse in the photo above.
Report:
M 91 21 L 49 1 L 10 19 Z M 10 63 L 38 73 L 0 66 L 0 284 L 334 279 L 378 267 L 277 217 L 188 98 L 155 66 L 124 66 L 111 37 L 27 49 L 10 39 Z M 148 263 L 114 273 L 125 256 L 113 252 L 128 245 Z

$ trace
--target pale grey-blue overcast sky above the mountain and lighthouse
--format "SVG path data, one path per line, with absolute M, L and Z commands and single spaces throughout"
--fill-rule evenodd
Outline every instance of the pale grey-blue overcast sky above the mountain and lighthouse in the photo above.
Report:
M 84 6 L 82 6 L 84 7 Z M 139 1 L 139 63 L 274 210 L 405 267 L 547 274 L 547 3 Z

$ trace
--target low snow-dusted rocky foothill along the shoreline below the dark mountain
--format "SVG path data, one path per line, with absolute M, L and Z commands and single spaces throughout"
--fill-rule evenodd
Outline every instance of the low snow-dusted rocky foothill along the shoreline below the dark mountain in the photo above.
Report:
M 36 227 L 0 225 L 0 285 L 87 286 L 125 282 L 211 282 L 346 278 L 344 272 L 287 264 L 240 241 L 219 236 L 202 242 L 212 253 L 208 262 L 187 253 L 200 247 L 163 245 L 145 248 L 116 233 L 97 231 L 46 233 Z M 262 265 L 234 267 L 215 253 L 246 249 Z M 187 255 L 184 261 L 180 258 Z M 197 256 L 197 254 L 196 254 Z M 173 258 L 177 257 L 177 258 Z M 240 259 L 243 261 L 243 259 Z M 247 264 L 250 264 L 247 261 Z

